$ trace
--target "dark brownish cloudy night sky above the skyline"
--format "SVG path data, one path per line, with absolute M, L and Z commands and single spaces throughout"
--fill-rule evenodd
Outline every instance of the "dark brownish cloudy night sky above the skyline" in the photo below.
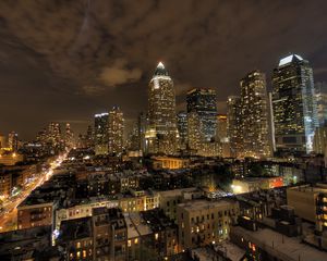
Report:
M 240 78 L 259 69 L 270 86 L 290 52 L 327 80 L 326 0 L 1 0 L 0 133 L 29 139 L 50 121 L 84 132 L 114 104 L 131 125 L 159 61 L 178 110 L 186 90 L 210 87 L 225 112 Z

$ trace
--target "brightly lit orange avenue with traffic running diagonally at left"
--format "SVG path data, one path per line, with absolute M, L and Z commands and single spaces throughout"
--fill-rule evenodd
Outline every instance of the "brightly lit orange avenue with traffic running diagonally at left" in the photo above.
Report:
M 53 175 L 53 170 L 61 165 L 66 154 L 60 156 L 50 163 L 48 171 L 40 173 L 32 183 L 14 198 L 10 198 L 3 202 L 3 212 L 0 213 L 0 233 L 17 229 L 17 206 L 28 197 L 28 195 L 38 186 L 43 185 Z

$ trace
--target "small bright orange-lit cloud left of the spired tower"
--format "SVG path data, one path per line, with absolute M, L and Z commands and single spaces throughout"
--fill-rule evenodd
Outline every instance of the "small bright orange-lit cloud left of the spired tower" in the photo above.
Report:
M 112 66 L 106 66 L 101 70 L 99 79 L 109 87 L 140 80 L 142 71 L 140 69 L 129 69 L 126 61 L 116 60 Z

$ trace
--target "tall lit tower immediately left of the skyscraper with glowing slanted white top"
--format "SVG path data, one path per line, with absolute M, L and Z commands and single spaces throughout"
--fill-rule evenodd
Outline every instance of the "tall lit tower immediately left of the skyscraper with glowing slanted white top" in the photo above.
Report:
M 256 70 L 242 78 L 240 85 L 243 156 L 269 157 L 266 76 Z

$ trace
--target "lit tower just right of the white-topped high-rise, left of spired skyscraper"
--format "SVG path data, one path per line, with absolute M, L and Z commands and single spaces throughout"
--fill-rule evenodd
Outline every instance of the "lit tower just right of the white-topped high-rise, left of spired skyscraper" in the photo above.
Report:
M 124 119 L 123 113 L 119 107 L 113 107 L 109 112 L 108 130 L 109 153 L 121 153 L 124 147 Z

